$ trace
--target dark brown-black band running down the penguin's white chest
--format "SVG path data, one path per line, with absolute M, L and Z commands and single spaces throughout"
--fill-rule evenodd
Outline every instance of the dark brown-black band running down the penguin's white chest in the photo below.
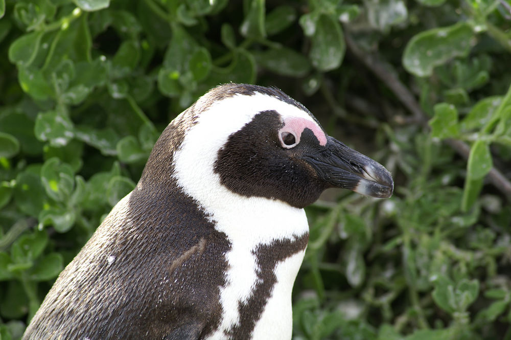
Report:
M 305 250 L 309 234 L 304 234 L 292 240 L 278 240 L 271 244 L 259 245 L 253 254 L 258 264 L 258 282 L 246 303 L 239 303 L 239 323 L 229 331 L 231 340 L 250 338 L 255 324 L 261 319 L 264 308 L 277 282 L 275 267 L 279 262 Z

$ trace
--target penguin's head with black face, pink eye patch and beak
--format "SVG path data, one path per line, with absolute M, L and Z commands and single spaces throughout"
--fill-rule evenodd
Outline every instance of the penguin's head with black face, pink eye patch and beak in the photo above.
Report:
M 153 153 L 174 151 L 169 171 L 199 200 L 221 202 L 228 192 L 303 208 L 327 188 L 392 194 L 382 165 L 327 135 L 305 106 L 275 88 L 220 85 L 169 128 L 182 139 L 166 138 L 175 145 L 157 143 Z

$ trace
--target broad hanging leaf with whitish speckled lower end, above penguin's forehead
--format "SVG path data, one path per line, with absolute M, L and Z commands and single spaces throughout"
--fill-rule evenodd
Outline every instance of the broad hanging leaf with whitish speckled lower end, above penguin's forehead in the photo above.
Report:
M 337 69 L 344 58 L 346 44 L 338 21 L 321 15 L 311 37 L 309 58 L 316 69 L 326 72 Z

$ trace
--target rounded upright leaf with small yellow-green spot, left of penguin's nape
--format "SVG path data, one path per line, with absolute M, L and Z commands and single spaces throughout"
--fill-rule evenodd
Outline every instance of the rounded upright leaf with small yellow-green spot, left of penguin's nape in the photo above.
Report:
M 50 158 L 41 168 L 41 182 L 49 197 L 66 202 L 75 184 L 73 168 L 57 157 Z

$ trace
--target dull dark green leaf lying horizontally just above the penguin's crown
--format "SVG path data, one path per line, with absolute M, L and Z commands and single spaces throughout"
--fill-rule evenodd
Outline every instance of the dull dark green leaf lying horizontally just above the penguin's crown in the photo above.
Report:
M 288 48 L 273 48 L 255 55 L 258 64 L 266 69 L 289 77 L 303 77 L 311 69 L 309 59 Z

